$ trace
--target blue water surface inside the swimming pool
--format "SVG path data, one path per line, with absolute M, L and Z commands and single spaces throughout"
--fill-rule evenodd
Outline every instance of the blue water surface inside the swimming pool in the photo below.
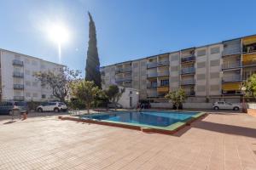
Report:
M 81 118 L 96 119 L 99 121 L 107 120 L 113 122 L 128 122 L 138 123 L 142 125 L 167 127 L 172 125 L 173 123 L 184 121 L 197 113 L 198 112 L 185 111 L 120 111 L 114 113 L 82 116 Z

